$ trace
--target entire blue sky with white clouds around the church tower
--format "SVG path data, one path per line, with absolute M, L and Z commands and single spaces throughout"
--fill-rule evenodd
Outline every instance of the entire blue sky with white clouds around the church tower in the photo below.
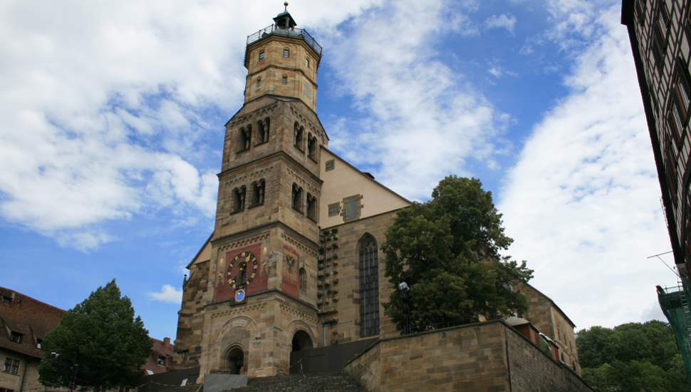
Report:
M 69 309 L 110 279 L 175 336 L 212 231 L 245 38 L 281 1 L 0 5 L 0 285 Z M 670 249 L 618 1 L 306 1 L 330 148 L 425 200 L 492 190 L 509 253 L 579 328 L 662 317 Z M 671 257 L 667 259 L 671 263 Z

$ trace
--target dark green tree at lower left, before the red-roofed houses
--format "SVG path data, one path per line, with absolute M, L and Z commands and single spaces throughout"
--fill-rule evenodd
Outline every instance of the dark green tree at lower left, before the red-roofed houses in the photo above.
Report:
M 63 315 L 43 340 L 46 353 L 38 379 L 46 386 L 91 387 L 95 390 L 133 386 L 150 354 L 144 323 L 115 280 Z

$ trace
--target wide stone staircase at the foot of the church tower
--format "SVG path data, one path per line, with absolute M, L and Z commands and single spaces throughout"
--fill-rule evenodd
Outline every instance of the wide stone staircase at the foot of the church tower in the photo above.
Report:
M 247 386 L 227 392 L 367 392 L 345 373 L 308 376 L 274 376 L 252 378 Z

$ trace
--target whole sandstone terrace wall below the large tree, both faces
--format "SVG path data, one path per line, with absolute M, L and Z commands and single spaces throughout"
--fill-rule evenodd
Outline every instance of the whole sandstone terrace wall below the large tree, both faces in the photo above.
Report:
M 593 391 L 503 321 L 383 339 L 344 371 L 369 391 Z

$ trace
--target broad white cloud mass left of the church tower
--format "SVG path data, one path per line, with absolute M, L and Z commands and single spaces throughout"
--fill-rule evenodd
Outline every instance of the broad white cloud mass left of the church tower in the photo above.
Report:
M 291 11 L 328 30 L 376 4 Z M 279 11 L 271 1 L 3 1 L 0 216 L 78 249 L 113 239 L 104 222 L 150 208 L 211 217 L 218 151 L 199 141 L 222 124 L 198 113 L 241 103 L 244 37 Z

